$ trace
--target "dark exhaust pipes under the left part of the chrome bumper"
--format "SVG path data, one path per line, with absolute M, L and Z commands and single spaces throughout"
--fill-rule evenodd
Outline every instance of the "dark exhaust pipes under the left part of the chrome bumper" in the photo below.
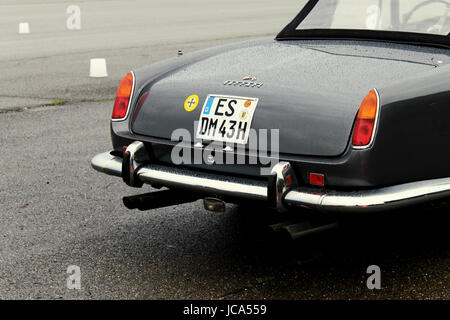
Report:
M 186 192 L 163 190 L 123 197 L 122 201 L 125 207 L 130 210 L 138 209 L 140 211 L 146 211 L 190 203 L 198 199 L 200 198 L 192 194 L 186 194 Z

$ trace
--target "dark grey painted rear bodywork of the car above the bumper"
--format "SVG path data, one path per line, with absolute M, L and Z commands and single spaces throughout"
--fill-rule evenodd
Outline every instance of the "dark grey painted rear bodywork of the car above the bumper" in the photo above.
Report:
M 232 44 L 138 69 L 130 116 L 112 122 L 114 149 L 139 140 L 153 161 L 170 163 L 171 133 L 194 136 L 201 108 L 187 113 L 190 94 L 260 99 L 252 127 L 280 129 L 280 160 L 301 184 L 310 172 L 326 187 L 359 189 L 450 177 L 450 50 L 412 44 L 350 40 L 260 39 Z M 251 75 L 260 88 L 224 85 Z M 364 96 L 380 95 L 373 145 L 351 147 Z M 150 93 L 136 108 L 140 97 Z M 248 151 L 248 150 L 247 150 Z M 197 165 L 199 170 L 257 176 L 240 165 Z

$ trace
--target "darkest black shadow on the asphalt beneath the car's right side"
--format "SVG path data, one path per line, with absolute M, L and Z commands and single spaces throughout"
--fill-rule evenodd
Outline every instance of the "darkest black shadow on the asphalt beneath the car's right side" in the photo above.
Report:
M 368 214 L 328 214 L 300 210 L 278 214 L 260 208 L 233 208 L 242 244 L 250 252 L 261 251 L 275 261 L 314 257 L 322 263 L 339 260 L 388 259 L 395 255 L 417 257 L 430 251 L 448 250 L 450 207 L 442 204 L 416 206 Z M 283 221 L 336 221 L 337 229 L 292 240 L 287 232 L 273 232 L 268 226 Z

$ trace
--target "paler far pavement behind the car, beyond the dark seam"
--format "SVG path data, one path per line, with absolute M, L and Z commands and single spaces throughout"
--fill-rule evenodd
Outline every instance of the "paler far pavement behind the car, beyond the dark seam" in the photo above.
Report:
M 304 1 L 2 0 L 0 110 L 61 101 L 110 99 L 130 70 L 196 49 L 275 36 Z M 68 30 L 70 5 L 80 30 Z M 28 22 L 30 34 L 19 35 Z M 90 79 L 89 61 L 105 58 L 106 79 Z

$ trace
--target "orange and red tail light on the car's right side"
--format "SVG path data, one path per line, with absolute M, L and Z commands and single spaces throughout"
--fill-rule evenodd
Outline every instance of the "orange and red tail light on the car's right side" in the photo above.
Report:
M 352 145 L 357 148 L 364 148 L 370 145 L 378 116 L 378 93 L 374 89 L 364 98 L 359 108 L 353 130 Z

